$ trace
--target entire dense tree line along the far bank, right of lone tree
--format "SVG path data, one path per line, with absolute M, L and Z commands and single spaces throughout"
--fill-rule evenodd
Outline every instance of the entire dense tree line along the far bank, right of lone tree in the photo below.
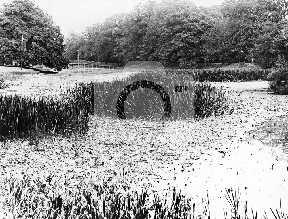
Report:
M 186 0 L 148 1 L 65 39 L 67 59 L 160 61 L 193 67 L 251 62 L 272 67 L 288 57 L 287 0 L 225 0 L 196 7 Z

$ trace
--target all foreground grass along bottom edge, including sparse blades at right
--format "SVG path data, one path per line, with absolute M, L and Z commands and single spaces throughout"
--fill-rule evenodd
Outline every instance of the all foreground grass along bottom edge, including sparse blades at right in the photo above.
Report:
M 124 171 L 124 167 L 123 167 Z M 20 178 L 12 176 L 4 179 L 1 188 L 3 197 L 1 218 L 103 218 L 103 219 L 210 219 L 210 197 L 202 197 L 203 212 L 195 211 L 199 204 L 186 197 L 175 187 L 171 192 L 162 195 L 144 187 L 136 192 L 130 189 L 129 184 L 122 180 L 120 183 L 99 179 L 94 185 L 85 183 L 73 183 L 72 179 L 60 180 L 54 173 L 48 174 L 45 179 L 39 177 L 39 173 L 33 175 L 24 174 Z M 240 201 L 240 193 L 236 190 L 225 189 L 225 197 L 230 209 L 223 215 L 215 218 L 256 219 L 257 210 L 248 210 Z M 212 203 L 213 204 L 213 203 Z M 240 209 L 244 207 L 244 209 Z M 261 207 L 261 206 L 259 206 Z M 244 210 L 244 212 L 243 212 Z M 287 219 L 281 201 L 280 209 L 269 209 L 272 218 Z M 269 214 L 269 213 L 268 213 Z M 261 216 L 260 216 L 261 217 Z M 265 212 L 261 218 L 268 219 Z

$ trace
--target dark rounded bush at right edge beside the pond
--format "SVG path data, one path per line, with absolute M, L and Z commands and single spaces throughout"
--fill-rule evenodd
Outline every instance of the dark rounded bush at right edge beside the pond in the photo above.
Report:
M 275 68 L 268 75 L 271 90 L 278 94 L 288 94 L 288 68 Z

